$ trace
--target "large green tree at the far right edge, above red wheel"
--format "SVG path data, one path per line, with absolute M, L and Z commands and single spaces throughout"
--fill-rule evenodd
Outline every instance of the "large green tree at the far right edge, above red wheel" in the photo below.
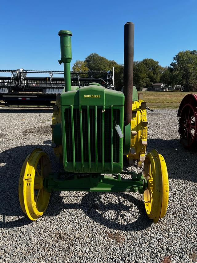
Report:
M 180 51 L 170 64 L 172 84 L 180 84 L 183 91 L 195 90 L 197 79 L 197 51 Z

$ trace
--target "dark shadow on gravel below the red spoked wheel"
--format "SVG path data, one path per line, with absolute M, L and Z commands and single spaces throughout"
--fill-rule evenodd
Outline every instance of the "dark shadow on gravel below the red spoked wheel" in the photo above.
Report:
M 197 150 L 184 149 L 179 140 L 148 139 L 147 152 L 156 149 L 167 165 L 169 179 L 197 182 Z

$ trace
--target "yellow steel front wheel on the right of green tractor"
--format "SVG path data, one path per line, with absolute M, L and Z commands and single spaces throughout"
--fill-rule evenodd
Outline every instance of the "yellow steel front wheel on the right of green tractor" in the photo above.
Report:
M 143 173 L 148 181 L 147 190 L 144 191 L 147 216 L 157 223 L 167 211 L 169 183 L 166 162 L 155 149 L 147 154 Z

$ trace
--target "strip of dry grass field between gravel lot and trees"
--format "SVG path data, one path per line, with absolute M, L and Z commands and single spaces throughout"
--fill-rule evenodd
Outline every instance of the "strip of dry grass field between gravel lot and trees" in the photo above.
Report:
M 144 91 L 142 93 L 144 101 L 147 102 L 147 107 L 151 109 L 176 109 L 179 108 L 179 104 L 182 101 L 183 97 L 192 92 Z

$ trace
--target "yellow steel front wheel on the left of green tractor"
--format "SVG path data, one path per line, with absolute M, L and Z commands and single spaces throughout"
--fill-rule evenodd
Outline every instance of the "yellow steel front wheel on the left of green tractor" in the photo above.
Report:
M 50 193 L 43 187 L 43 179 L 51 172 L 48 155 L 35 149 L 23 163 L 19 179 L 19 201 L 30 220 L 36 220 L 45 212 Z

